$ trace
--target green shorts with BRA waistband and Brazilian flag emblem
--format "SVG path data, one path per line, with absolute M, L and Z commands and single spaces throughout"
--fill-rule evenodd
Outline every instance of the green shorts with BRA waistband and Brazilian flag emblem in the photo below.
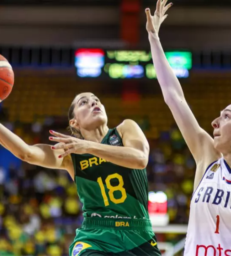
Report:
M 150 220 L 85 218 L 70 256 L 160 256 Z

